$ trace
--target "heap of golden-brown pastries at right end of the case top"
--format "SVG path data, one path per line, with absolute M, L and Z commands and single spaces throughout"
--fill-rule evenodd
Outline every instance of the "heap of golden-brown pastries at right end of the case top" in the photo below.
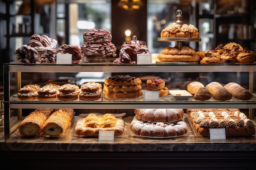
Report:
M 256 61 L 256 54 L 253 51 L 235 42 L 225 46 L 219 44 L 214 50 L 196 53 L 200 57 L 200 64 L 249 64 Z

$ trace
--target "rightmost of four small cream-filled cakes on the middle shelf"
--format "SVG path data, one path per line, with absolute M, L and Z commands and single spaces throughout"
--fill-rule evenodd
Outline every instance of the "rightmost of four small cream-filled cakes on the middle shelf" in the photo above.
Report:
M 97 82 L 82 84 L 79 93 L 81 100 L 97 100 L 101 98 L 102 85 Z

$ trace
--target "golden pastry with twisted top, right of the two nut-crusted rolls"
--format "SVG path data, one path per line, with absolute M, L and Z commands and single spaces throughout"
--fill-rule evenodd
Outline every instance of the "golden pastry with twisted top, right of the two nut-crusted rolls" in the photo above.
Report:
M 99 131 L 114 131 L 115 136 L 122 135 L 124 133 L 124 120 L 107 113 L 102 117 L 89 114 L 76 122 L 76 135 L 98 136 Z

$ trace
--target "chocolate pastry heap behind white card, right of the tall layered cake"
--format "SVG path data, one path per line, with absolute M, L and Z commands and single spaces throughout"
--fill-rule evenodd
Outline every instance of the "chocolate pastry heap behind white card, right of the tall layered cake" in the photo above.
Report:
M 137 54 L 150 54 L 148 46 L 146 42 L 137 40 L 137 37 L 134 36 L 130 42 L 125 42 L 121 46 L 121 50 L 119 52 L 119 58 L 114 60 L 113 63 L 118 64 L 136 64 L 137 63 Z

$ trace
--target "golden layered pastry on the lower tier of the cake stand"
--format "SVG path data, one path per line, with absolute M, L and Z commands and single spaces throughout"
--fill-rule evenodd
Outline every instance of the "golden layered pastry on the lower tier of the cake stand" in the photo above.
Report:
M 198 62 L 199 57 L 192 47 L 182 46 L 181 49 L 166 46 L 157 58 L 162 62 Z

